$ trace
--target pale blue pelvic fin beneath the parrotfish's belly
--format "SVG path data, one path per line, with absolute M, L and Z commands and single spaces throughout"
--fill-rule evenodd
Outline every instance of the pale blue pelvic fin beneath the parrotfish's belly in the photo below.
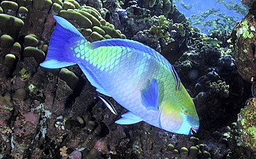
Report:
M 121 115 L 122 118 L 116 121 L 116 124 L 135 124 L 137 122 L 143 121 L 141 118 L 139 118 L 134 113 L 131 113 L 130 111 Z

